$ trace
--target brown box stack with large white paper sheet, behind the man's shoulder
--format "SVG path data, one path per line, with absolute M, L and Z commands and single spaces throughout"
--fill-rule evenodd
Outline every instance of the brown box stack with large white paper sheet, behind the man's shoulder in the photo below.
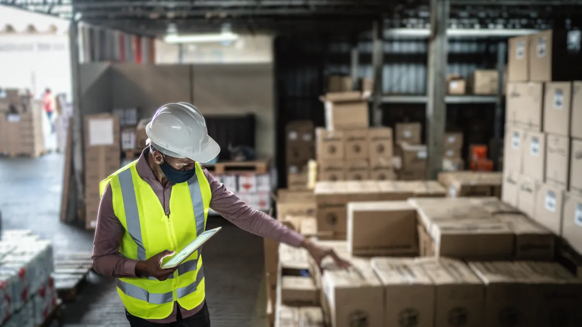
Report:
M 109 113 L 85 116 L 84 132 L 84 224 L 85 228 L 94 229 L 101 201 L 99 183 L 120 166 L 119 116 Z

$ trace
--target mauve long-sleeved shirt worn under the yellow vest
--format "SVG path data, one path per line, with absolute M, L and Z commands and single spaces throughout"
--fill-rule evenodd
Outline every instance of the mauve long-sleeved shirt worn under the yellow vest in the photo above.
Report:
M 158 196 L 165 211 L 169 211 L 170 194 L 172 193 L 171 182 L 162 185 L 155 178 L 154 172 L 147 163 L 149 148 L 145 148 L 139 159 L 137 159 L 137 174 L 147 182 L 155 194 Z M 294 230 L 287 228 L 281 222 L 271 218 L 264 212 L 249 207 L 241 201 L 235 194 L 226 189 L 218 182 L 208 170 L 204 169 L 204 176 L 210 184 L 212 198 L 210 208 L 221 214 L 228 221 L 247 232 L 278 242 L 299 247 L 303 243 L 304 237 Z M 186 204 L 184 204 L 186 205 Z M 187 204 L 191 205 L 191 204 Z M 118 278 L 136 278 L 137 260 L 128 259 L 119 254 L 119 246 L 125 229 L 113 212 L 111 186 L 107 186 L 97 213 L 97 228 L 95 228 L 95 239 L 93 241 L 93 269 L 102 275 L 109 275 Z M 193 310 L 185 310 L 178 302 L 174 303 L 172 314 L 164 319 L 150 320 L 160 324 L 167 324 L 176 321 L 178 310 L 183 318 L 196 314 L 204 305 L 204 302 Z

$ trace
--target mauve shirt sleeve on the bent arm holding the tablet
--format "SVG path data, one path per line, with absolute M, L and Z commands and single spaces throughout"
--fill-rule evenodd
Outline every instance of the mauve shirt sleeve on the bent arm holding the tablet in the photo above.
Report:
M 113 212 L 111 185 L 105 189 L 97 211 L 97 228 L 93 240 L 93 269 L 101 275 L 113 277 L 136 277 L 137 260 L 128 259 L 119 253 L 123 225 Z

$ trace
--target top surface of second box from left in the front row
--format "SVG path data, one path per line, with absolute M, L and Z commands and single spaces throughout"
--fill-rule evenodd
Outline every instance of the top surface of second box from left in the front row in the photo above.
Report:
M 432 285 L 413 258 L 372 258 L 370 264 L 384 285 Z

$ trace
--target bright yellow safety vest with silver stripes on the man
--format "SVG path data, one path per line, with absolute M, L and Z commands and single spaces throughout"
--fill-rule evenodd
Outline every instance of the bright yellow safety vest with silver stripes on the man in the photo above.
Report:
M 164 212 L 154 190 L 129 163 L 100 183 L 100 192 L 111 184 L 113 212 L 125 228 L 119 252 L 126 258 L 146 260 L 164 250 L 178 253 L 206 227 L 210 184 L 200 165 L 188 182 L 175 184 L 170 211 Z M 191 310 L 204 301 L 204 271 L 200 250 L 190 255 L 168 279 L 118 278 L 117 293 L 130 314 L 144 319 L 163 319 L 174 301 Z M 165 258 L 167 262 L 170 258 Z

